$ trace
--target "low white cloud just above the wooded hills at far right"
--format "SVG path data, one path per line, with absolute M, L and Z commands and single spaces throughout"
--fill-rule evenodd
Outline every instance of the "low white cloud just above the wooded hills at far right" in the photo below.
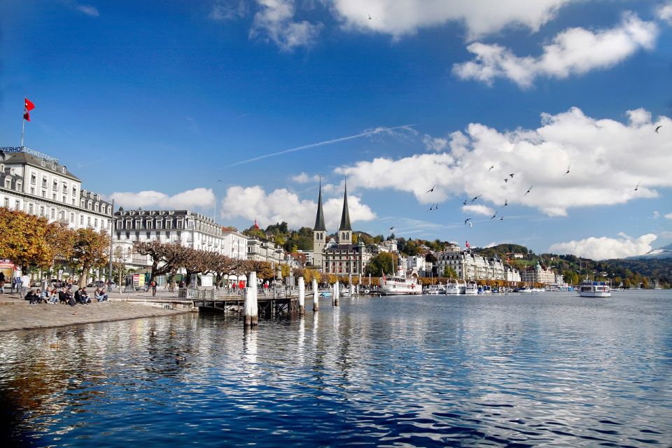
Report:
M 561 254 L 570 253 L 592 260 L 607 260 L 643 255 L 652 249 L 651 243 L 657 239 L 657 236 L 652 233 L 636 239 L 623 233 L 620 233 L 619 237 L 618 239 L 590 237 L 579 241 L 556 243 L 549 248 L 549 251 Z

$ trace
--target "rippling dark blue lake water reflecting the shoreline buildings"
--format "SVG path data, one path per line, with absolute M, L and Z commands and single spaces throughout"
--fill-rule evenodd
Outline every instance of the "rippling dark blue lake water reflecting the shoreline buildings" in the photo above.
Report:
M 251 332 L 224 314 L 4 332 L 0 412 L 18 447 L 669 447 L 672 293 L 322 299 Z

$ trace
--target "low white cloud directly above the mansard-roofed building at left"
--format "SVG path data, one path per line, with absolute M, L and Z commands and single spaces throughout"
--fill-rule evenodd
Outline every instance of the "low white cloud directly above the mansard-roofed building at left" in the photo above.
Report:
M 127 209 L 193 209 L 211 208 L 215 204 L 215 195 L 211 188 L 195 188 L 169 196 L 158 191 L 146 190 L 137 193 L 117 192 L 110 195 L 115 202 Z

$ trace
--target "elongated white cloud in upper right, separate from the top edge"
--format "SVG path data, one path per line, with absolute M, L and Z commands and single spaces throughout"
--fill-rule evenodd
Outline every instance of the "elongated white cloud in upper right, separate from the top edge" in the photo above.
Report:
M 640 48 L 653 48 L 657 36 L 654 22 L 626 13 L 621 24 L 612 29 L 570 28 L 561 32 L 544 46 L 539 57 L 518 57 L 501 45 L 472 43 L 467 50 L 474 59 L 455 64 L 453 71 L 459 78 L 488 85 L 495 78 L 509 78 L 519 87 L 530 87 L 538 76 L 567 78 L 614 66 Z

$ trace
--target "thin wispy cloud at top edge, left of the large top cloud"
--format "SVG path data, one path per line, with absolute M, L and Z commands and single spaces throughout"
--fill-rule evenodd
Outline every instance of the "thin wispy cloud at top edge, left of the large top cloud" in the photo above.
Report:
M 293 0 L 257 0 L 257 3 L 262 9 L 254 15 L 250 37 L 264 34 L 281 50 L 312 45 L 323 27 L 321 23 L 293 21 Z

